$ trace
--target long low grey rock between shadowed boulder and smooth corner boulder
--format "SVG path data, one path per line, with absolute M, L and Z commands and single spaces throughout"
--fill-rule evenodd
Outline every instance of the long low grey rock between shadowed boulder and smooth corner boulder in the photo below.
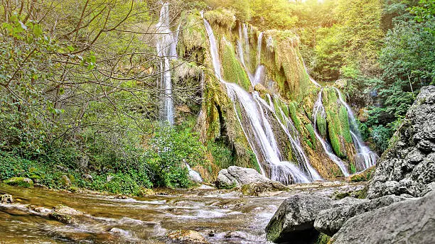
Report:
M 389 206 L 397 201 L 407 199 L 403 196 L 387 195 L 378 199 L 362 200 L 358 203 L 338 206 L 332 209 L 325 209 L 318 213 L 314 228 L 326 235 L 334 235 L 340 230 L 341 226 L 348 221 L 349 218 L 363 214 L 368 211 L 374 211 L 384 206 Z

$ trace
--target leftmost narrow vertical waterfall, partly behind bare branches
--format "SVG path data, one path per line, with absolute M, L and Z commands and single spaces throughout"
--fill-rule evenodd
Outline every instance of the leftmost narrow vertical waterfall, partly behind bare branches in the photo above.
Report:
M 161 7 L 159 23 L 156 24 L 158 38 L 156 43 L 157 55 L 161 58 L 159 67 L 161 72 L 159 89 L 163 91 L 160 102 L 160 119 L 173 125 L 173 100 L 170 60 L 176 58 L 176 40 L 169 29 L 169 4 Z

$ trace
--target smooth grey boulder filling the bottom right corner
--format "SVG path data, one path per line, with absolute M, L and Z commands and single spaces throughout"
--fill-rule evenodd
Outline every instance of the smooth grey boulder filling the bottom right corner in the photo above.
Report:
M 333 244 L 435 243 L 435 192 L 350 218 Z

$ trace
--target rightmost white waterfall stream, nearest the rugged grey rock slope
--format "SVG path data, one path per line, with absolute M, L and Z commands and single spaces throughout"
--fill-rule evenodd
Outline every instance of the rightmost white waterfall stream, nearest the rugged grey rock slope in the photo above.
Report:
M 368 167 L 372 167 L 373 165 L 376 165 L 376 153 L 373 153 L 372 150 L 367 147 L 367 145 L 364 145 L 363 139 L 360 135 L 360 131 L 358 130 L 358 123 L 355 119 L 355 115 L 353 114 L 352 109 L 350 109 L 349 104 L 344 101 L 340 90 L 336 87 L 334 88 L 335 91 L 337 91 L 338 93 L 338 99 L 340 100 L 341 104 L 343 104 L 348 111 L 350 135 L 352 135 L 353 144 L 355 145 L 355 149 L 357 150 L 357 155 L 359 157 L 358 159 L 363 160 L 363 170 L 367 169 Z

